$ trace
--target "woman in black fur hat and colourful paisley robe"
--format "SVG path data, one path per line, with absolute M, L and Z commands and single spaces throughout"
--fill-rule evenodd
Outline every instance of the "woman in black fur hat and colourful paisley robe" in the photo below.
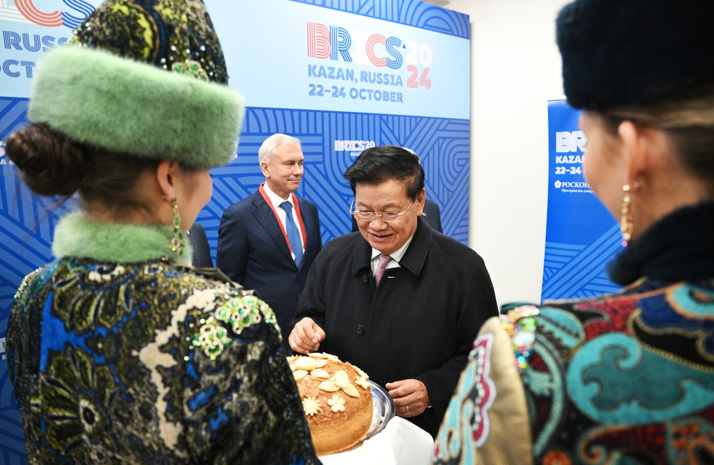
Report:
M 714 464 L 714 2 L 577 0 L 557 37 L 615 295 L 481 328 L 436 464 Z

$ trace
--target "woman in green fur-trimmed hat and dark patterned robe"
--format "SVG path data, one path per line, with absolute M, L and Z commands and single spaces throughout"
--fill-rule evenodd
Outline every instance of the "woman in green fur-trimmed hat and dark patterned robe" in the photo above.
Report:
M 7 141 L 32 190 L 81 200 L 9 322 L 28 463 L 319 463 L 271 309 L 184 265 L 243 116 L 205 6 L 106 1 L 74 34 Z

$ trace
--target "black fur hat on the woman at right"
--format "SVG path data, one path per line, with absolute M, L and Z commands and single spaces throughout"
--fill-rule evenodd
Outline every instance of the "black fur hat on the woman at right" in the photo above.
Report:
M 714 84 L 714 0 L 576 0 L 555 26 L 575 108 L 638 105 Z

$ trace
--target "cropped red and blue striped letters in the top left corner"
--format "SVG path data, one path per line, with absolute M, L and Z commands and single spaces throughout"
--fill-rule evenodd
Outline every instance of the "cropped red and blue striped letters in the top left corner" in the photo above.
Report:
M 42 6 L 47 9 L 49 5 L 55 8 L 66 9 L 69 11 L 43 11 L 35 5 L 36 0 L 15 0 L 15 6 L 8 5 L 6 1 L 0 1 L 1 16 L 9 16 L 11 21 L 21 20 L 19 16 L 38 26 L 58 27 L 67 26 L 69 29 L 75 29 L 82 21 L 89 18 L 89 15 L 94 11 L 94 6 L 84 0 L 53 0 L 42 1 Z M 39 2 L 38 2 L 39 3 Z M 56 6 L 54 4 L 57 4 Z M 18 15 L 19 13 L 19 15 Z M 14 17 L 18 16 L 18 17 Z M 22 22 L 26 22 L 22 21 Z

